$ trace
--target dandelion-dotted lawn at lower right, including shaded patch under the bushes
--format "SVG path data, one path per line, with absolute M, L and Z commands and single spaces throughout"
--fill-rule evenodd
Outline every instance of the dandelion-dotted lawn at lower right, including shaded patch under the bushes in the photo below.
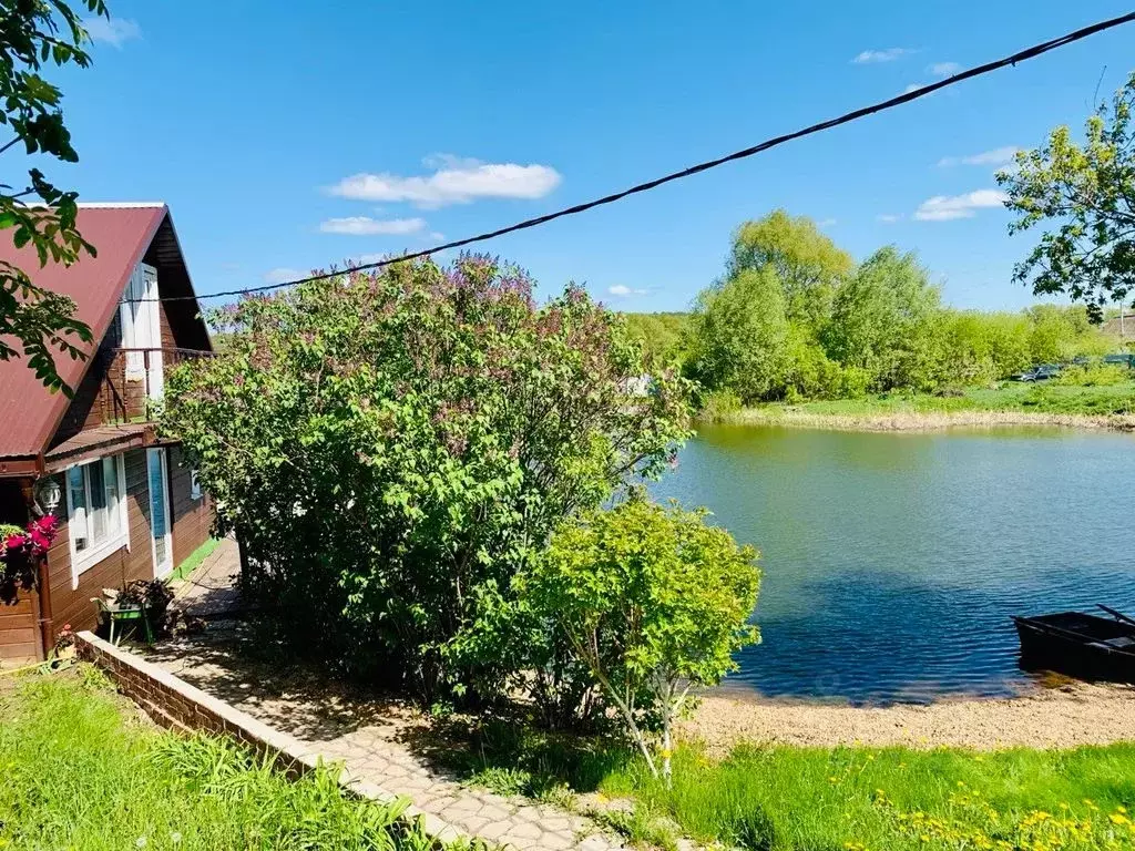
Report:
M 672 843 L 658 827 L 669 820 L 696 839 L 759 851 L 1135 849 L 1135 744 L 989 753 L 742 747 L 724 760 L 683 745 L 670 790 L 619 749 L 571 750 L 501 728 L 471 750 L 479 756 L 466 772 L 498 791 L 570 798 L 558 783 L 632 799 L 633 810 L 612 820 L 662 845 Z

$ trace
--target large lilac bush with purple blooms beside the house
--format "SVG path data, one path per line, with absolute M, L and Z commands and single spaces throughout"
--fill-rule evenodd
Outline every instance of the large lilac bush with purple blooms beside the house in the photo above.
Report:
M 513 579 L 565 517 L 665 467 L 686 381 L 575 286 L 485 256 L 351 272 L 216 317 L 167 431 L 296 644 L 426 697 L 499 693 L 548 646 Z

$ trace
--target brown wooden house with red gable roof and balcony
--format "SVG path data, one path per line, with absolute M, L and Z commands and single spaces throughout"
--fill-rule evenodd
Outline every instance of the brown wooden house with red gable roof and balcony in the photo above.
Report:
M 47 581 L 0 604 L 0 660 L 43 658 L 65 625 L 94 626 L 103 588 L 168 575 L 210 532 L 208 496 L 153 422 L 166 372 L 212 354 L 169 210 L 81 205 L 78 229 L 98 256 L 43 269 L 0 231 L 0 260 L 74 300 L 95 340 L 85 361 L 56 356 L 70 399 L 23 359 L 0 361 L 0 522 L 25 525 L 52 502 L 59 520 Z

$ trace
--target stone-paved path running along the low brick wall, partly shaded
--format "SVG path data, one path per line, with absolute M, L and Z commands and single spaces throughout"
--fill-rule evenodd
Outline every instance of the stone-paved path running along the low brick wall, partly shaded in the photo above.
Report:
M 202 565 L 201 570 L 205 570 Z M 295 736 L 356 782 L 409 798 L 427 816 L 466 836 L 518 851 L 624 848 L 586 816 L 521 798 L 469 789 L 430 758 L 444 742 L 411 707 L 367 698 L 333 681 L 271 660 L 255 662 L 244 624 L 215 623 L 203 635 L 152 648 L 150 662 L 254 718 Z

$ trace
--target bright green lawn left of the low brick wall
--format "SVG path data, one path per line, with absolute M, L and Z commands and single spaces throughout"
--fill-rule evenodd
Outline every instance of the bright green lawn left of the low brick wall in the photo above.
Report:
M 18 682 L 14 682 L 18 680 Z M 429 849 L 396 808 L 140 719 L 96 669 L 0 679 L 0 849 Z

